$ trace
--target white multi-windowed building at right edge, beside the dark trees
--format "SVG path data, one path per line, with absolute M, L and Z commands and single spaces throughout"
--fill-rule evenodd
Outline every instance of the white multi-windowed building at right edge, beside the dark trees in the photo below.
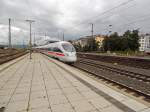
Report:
M 141 34 L 139 37 L 139 51 L 145 51 L 150 48 L 150 34 Z

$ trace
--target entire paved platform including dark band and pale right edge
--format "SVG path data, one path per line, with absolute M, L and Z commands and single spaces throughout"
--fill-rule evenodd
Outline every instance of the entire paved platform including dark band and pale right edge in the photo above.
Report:
M 4 112 L 150 112 L 148 105 L 42 54 L 7 65 L 0 71 Z

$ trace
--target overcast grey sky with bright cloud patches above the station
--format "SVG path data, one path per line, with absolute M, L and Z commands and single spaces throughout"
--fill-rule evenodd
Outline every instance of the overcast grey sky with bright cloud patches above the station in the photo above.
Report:
M 114 9 L 127 1 L 131 2 Z M 35 20 L 32 33 L 37 41 L 62 39 L 63 32 L 67 40 L 90 35 L 90 23 L 94 23 L 94 34 L 137 28 L 149 33 L 149 5 L 150 0 L 0 0 L 0 43 L 8 43 L 8 18 L 12 19 L 13 44 L 28 42 L 26 19 Z

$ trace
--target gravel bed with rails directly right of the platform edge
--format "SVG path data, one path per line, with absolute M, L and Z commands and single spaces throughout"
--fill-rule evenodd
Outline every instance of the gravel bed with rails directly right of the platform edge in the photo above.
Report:
M 98 61 L 79 58 L 73 66 L 92 75 L 113 82 L 123 88 L 134 91 L 150 102 L 150 75 L 134 73 L 113 66 L 100 64 Z

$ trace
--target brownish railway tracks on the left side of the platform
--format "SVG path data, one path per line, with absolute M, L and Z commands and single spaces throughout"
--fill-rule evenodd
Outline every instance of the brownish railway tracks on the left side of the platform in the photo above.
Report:
M 3 64 L 3 63 L 6 63 L 10 60 L 13 60 L 15 58 L 18 58 L 22 55 L 25 55 L 27 52 L 25 50 L 20 50 L 20 51 L 17 51 L 17 50 L 13 50 L 10 52 L 7 50 L 7 51 L 3 51 L 0 53 L 0 64 Z

